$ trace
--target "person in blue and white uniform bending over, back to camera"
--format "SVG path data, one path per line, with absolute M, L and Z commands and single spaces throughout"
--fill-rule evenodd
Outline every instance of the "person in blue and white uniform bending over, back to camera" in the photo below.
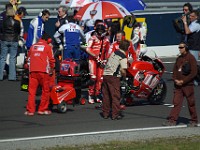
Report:
M 60 40 L 60 36 L 63 34 L 64 51 L 63 59 L 73 58 L 80 60 L 81 49 L 80 42 L 85 43 L 85 35 L 81 27 L 73 22 L 66 23 L 61 26 L 58 31 L 54 34 L 56 42 L 59 44 L 59 50 L 63 50 L 63 46 Z M 80 41 L 81 38 L 81 41 Z

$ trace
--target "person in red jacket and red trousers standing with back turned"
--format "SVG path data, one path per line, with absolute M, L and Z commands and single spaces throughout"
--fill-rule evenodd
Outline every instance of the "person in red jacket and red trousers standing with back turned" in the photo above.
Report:
M 29 95 L 25 115 L 33 116 L 36 111 L 35 95 L 38 85 L 42 87 L 42 96 L 38 108 L 39 115 L 49 115 L 50 77 L 54 69 L 52 46 L 48 44 L 50 36 L 44 33 L 42 38 L 31 46 L 28 52 L 29 61 Z

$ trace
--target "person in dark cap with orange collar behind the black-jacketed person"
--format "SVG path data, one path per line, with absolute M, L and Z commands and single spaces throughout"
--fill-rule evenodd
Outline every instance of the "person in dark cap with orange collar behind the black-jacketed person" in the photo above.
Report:
M 20 7 L 17 9 L 17 14 L 15 15 L 15 19 L 18 20 L 20 22 L 20 27 L 21 27 L 21 31 L 20 31 L 20 38 L 18 41 L 18 44 L 20 47 L 22 47 L 24 45 L 24 25 L 22 22 L 22 18 L 24 18 L 26 15 L 28 15 L 26 8 L 25 7 Z

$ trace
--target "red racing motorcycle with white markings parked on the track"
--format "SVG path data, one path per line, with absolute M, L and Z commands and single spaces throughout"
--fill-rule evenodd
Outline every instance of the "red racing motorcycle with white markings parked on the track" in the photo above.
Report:
M 122 81 L 122 104 L 130 104 L 134 98 L 147 99 L 150 104 L 162 104 L 167 86 L 162 79 L 165 67 L 157 56 L 142 55 L 127 69 L 126 81 Z

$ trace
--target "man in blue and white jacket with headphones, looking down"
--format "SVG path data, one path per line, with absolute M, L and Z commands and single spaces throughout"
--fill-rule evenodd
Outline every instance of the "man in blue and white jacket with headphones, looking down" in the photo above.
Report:
M 41 16 L 39 15 L 37 18 L 31 20 L 29 29 L 28 29 L 28 37 L 26 40 L 26 47 L 29 49 L 33 44 L 38 42 L 38 40 L 42 37 L 44 33 L 44 23 L 49 20 L 50 12 L 45 9 L 42 11 Z

